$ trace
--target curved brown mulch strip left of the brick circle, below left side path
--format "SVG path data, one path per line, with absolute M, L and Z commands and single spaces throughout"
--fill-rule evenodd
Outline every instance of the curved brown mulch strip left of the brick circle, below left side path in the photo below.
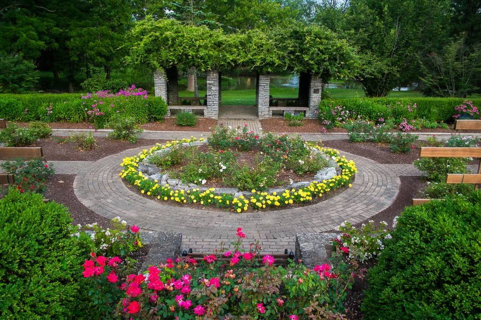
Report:
M 103 228 L 110 227 L 110 220 L 87 208 L 74 193 L 75 174 L 55 174 L 47 180 L 45 197 L 68 207 L 73 224 L 81 225 L 97 222 Z

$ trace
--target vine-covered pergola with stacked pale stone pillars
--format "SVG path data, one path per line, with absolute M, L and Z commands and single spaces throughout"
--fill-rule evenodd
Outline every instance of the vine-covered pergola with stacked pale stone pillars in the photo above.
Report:
M 154 70 L 155 95 L 168 104 L 178 101 L 178 70 L 195 68 L 205 72 L 204 114 L 211 118 L 218 116 L 220 70 L 245 68 L 256 72 L 259 118 L 272 116 L 270 76 L 276 72 L 297 72 L 297 105 L 304 106 L 300 109 L 306 111 L 307 117 L 315 117 L 323 80 L 346 77 L 356 65 L 355 49 L 318 25 L 224 33 L 221 29 L 186 25 L 173 19 L 147 17 L 137 23 L 131 38 L 128 59 Z

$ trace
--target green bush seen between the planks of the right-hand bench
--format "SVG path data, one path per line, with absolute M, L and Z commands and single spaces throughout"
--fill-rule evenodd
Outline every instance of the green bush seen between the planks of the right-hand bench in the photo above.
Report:
M 431 182 L 445 182 L 448 173 L 466 173 L 467 158 L 426 157 L 414 160 L 414 166 L 423 171 Z

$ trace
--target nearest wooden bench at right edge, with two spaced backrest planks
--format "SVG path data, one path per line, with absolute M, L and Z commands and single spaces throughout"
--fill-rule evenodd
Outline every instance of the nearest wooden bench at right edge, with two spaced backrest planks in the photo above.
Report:
M 446 183 L 474 184 L 474 189 L 481 183 L 481 147 L 421 147 L 421 157 L 474 157 L 479 158 L 477 173 L 452 174 L 446 176 Z M 429 202 L 431 199 L 415 198 L 412 205 Z

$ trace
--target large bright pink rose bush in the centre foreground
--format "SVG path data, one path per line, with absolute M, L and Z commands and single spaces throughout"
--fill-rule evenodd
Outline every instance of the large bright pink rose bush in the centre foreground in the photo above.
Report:
M 344 318 L 343 301 L 354 277 L 352 265 L 340 254 L 334 252 L 331 263 L 314 269 L 294 261 L 282 267 L 274 256 L 261 255 L 259 243 L 245 249 L 242 228 L 236 235 L 230 248 L 221 243 L 215 254 L 199 261 L 169 258 L 144 273 L 125 276 L 114 269 L 117 277 L 109 280 L 112 268 L 107 263 L 101 269 L 97 258 L 87 262 L 90 269 L 84 276 L 101 278 L 98 283 L 105 287 L 99 292 L 114 290 L 119 301 L 109 314 L 125 319 Z

